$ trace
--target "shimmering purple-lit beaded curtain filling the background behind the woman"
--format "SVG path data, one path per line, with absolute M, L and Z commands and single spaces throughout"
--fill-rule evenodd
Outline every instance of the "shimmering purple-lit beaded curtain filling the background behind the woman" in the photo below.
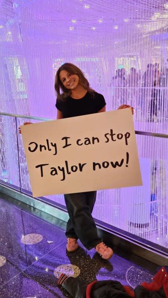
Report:
M 107 110 L 130 104 L 135 129 L 168 133 L 167 0 L 0 0 L 0 112 L 56 119 L 54 78 L 65 62 L 81 68 Z M 21 188 L 31 191 L 15 120 L 1 123 L 1 179 L 18 186 L 19 162 Z M 144 187 L 98 192 L 94 217 L 167 247 L 168 142 L 137 143 Z

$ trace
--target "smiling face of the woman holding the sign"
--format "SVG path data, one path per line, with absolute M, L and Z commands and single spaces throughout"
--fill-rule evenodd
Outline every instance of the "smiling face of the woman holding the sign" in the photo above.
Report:
M 63 70 L 60 72 L 60 80 L 65 88 L 73 90 L 78 87 L 80 78 L 78 74 L 70 74 Z

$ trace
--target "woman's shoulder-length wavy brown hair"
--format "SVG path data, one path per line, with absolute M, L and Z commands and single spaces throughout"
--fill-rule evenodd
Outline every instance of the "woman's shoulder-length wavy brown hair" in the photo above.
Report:
M 79 76 L 79 84 L 84 87 L 89 93 L 94 92 L 93 89 L 90 88 L 88 80 L 85 78 L 83 72 L 72 63 L 64 63 L 57 71 L 55 76 L 55 90 L 57 93 L 58 100 L 66 100 L 66 97 L 71 96 L 71 90 L 65 88 L 62 81 L 60 80 L 60 72 L 67 71 L 70 74 L 77 74 Z M 62 92 L 60 92 L 60 89 Z

